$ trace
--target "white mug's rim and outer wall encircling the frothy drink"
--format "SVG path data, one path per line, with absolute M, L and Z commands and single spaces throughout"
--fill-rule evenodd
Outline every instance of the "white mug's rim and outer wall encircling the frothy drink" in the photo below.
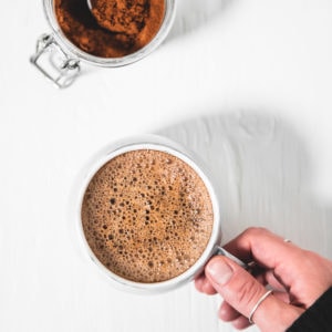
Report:
M 137 282 L 133 280 L 125 279 L 110 269 L 107 269 L 95 256 L 92 251 L 91 247 L 87 243 L 83 225 L 82 225 L 82 205 L 84 199 L 84 194 L 86 188 L 97 173 L 106 163 L 108 163 L 114 157 L 122 155 L 124 153 L 131 151 L 138 151 L 138 149 L 154 149 L 164 153 L 168 153 L 180 160 L 185 162 L 189 165 L 201 178 L 204 181 L 210 200 L 212 205 L 214 211 L 214 226 L 211 230 L 211 235 L 209 241 L 198 258 L 198 260 L 186 271 L 181 274 L 174 277 L 172 279 L 159 281 L 159 282 Z M 158 135 L 144 135 L 144 136 L 133 136 L 129 138 L 125 138 L 122 141 L 117 141 L 111 145 L 107 145 L 102 151 L 100 151 L 94 157 L 91 164 L 86 168 L 87 172 L 84 174 L 84 178 L 81 181 L 81 187 L 79 188 L 77 201 L 76 201 L 76 224 L 79 228 L 79 235 L 81 238 L 81 243 L 83 245 L 85 252 L 89 255 L 90 260 L 96 264 L 100 271 L 103 272 L 108 279 L 113 282 L 114 287 L 128 290 L 132 292 L 143 292 L 143 293 L 159 293 L 164 291 L 168 291 L 175 288 L 178 288 L 188 281 L 193 280 L 197 277 L 204 269 L 208 259 L 215 253 L 216 248 L 220 243 L 221 240 L 221 219 L 220 219 L 220 211 L 219 211 L 219 201 L 215 188 L 211 184 L 210 177 L 206 174 L 206 168 L 203 166 L 201 160 L 197 158 L 196 155 L 193 155 L 191 152 L 187 151 L 185 147 L 180 146 L 178 143 L 170 141 L 164 136 Z

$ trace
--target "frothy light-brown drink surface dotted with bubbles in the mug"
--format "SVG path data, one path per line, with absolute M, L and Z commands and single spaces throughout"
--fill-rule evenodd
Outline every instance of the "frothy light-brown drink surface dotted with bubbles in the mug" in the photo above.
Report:
M 184 273 L 203 255 L 214 224 L 198 174 L 154 149 L 127 152 L 106 163 L 90 181 L 81 214 L 96 258 L 136 282 Z

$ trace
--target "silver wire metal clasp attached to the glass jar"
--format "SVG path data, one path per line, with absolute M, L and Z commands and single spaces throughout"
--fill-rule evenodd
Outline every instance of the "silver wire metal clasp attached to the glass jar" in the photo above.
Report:
M 52 34 L 39 38 L 30 61 L 60 89 L 71 85 L 81 71 L 80 60 L 70 58 Z

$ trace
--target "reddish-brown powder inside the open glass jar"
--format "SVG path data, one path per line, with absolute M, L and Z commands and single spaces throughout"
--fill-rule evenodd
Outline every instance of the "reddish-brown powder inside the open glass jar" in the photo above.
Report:
M 82 51 L 121 58 L 148 44 L 165 14 L 165 0 L 54 0 L 65 37 Z

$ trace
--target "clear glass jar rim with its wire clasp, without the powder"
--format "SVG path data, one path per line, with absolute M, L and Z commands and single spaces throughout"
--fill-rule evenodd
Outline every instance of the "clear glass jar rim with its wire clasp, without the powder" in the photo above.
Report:
M 52 32 L 40 37 L 37 51 L 30 60 L 58 87 L 66 87 L 79 75 L 81 62 L 117 68 L 136 62 L 153 52 L 162 44 L 173 25 L 176 0 L 165 0 L 164 19 L 155 37 L 142 49 L 121 58 L 101 58 L 84 52 L 61 30 L 55 15 L 54 0 L 43 0 L 43 8 Z

